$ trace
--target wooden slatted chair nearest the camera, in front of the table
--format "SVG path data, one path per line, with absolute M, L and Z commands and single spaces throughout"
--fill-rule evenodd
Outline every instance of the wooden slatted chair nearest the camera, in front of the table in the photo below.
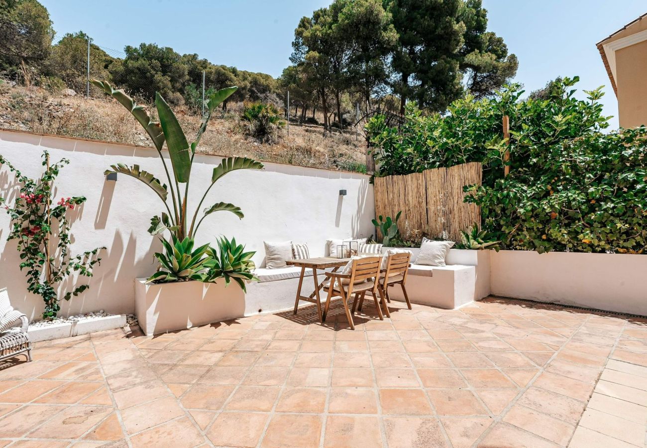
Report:
M 370 293 L 373 296 L 373 300 L 375 300 L 375 307 L 377 308 L 378 316 L 381 320 L 384 320 L 382 309 L 380 309 L 380 301 L 377 298 L 377 295 L 379 294 L 378 280 L 380 278 L 381 263 L 382 257 L 380 256 L 358 258 L 357 260 L 353 260 L 349 273 L 344 273 L 344 271 L 342 271 L 342 273 L 325 273 L 330 279 L 330 284 L 328 285 L 328 298 L 325 301 L 322 320 L 325 320 L 325 316 L 328 313 L 333 293 L 338 293 L 342 298 L 348 323 L 351 325 L 353 330 L 355 330 L 355 323 L 353 322 L 351 309 L 348 307 L 348 302 L 353 295 L 355 296 L 353 312 L 355 312 L 358 300 L 360 300 L 360 298 L 363 299 L 366 293 Z M 386 308 L 384 300 L 382 300 L 382 303 Z

